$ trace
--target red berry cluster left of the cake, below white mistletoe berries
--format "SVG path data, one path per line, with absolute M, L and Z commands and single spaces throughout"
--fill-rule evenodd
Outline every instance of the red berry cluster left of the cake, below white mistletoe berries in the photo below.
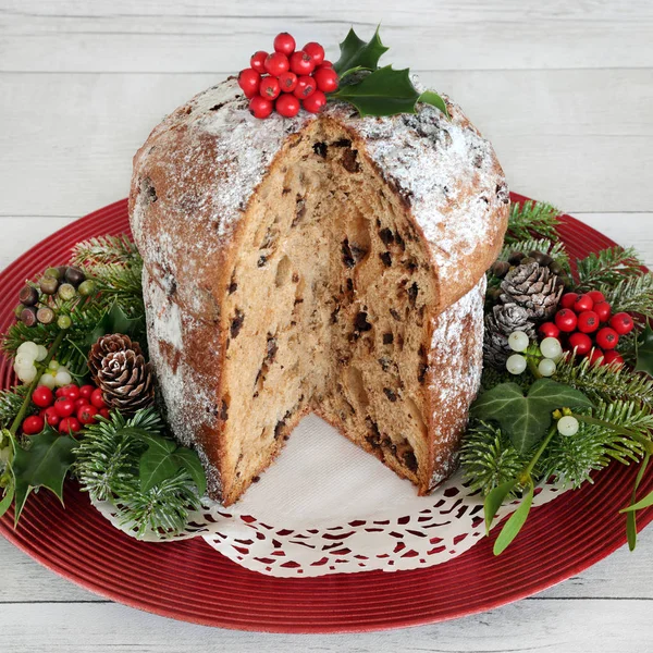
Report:
M 40 411 L 23 420 L 21 428 L 25 435 L 40 433 L 46 424 L 62 434 L 77 433 L 86 424 L 95 422 L 98 416 L 109 417 L 102 391 L 95 385 L 70 383 L 56 393 L 46 385 L 38 385 L 32 393 L 32 403 Z

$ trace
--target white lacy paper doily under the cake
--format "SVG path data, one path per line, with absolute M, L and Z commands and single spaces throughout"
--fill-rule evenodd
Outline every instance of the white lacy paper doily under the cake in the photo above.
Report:
M 533 506 L 562 492 L 544 484 Z M 498 519 L 517 504 L 503 506 Z M 95 505 L 134 534 L 119 525 L 113 505 Z M 293 578 L 431 567 L 469 550 L 484 528 L 482 497 L 469 492 L 460 473 L 430 496 L 416 496 L 410 482 L 309 416 L 239 502 L 224 508 L 207 501 L 187 530 L 168 541 L 202 537 L 247 569 Z M 155 533 L 143 539 L 161 541 Z

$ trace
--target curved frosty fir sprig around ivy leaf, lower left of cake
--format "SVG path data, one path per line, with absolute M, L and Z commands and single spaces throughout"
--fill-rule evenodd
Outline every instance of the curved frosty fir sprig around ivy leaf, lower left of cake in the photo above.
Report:
M 111 501 L 122 525 L 143 537 L 148 531 L 176 533 L 200 502 L 189 473 L 181 469 L 151 490 L 140 485 L 139 460 L 147 444 L 139 435 L 162 435 L 159 414 L 148 408 L 133 418 L 113 411 L 111 419 L 86 428 L 77 449 L 75 471 L 94 501 Z

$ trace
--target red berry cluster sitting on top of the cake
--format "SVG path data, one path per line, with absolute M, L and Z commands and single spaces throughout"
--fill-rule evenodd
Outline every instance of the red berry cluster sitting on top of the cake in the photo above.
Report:
M 274 110 L 293 118 L 300 106 L 318 113 L 326 104 L 325 94 L 337 88 L 337 74 L 324 59 L 324 48 L 310 42 L 295 50 L 295 39 L 286 32 L 276 35 L 274 52 L 255 52 L 249 65 L 241 71 L 238 85 L 256 118 L 268 118 Z

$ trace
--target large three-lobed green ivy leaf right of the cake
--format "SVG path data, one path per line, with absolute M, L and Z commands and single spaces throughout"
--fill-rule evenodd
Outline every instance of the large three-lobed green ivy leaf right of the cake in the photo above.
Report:
M 525 454 L 544 438 L 555 409 L 592 406 L 578 390 L 551 379 L 539 379 L 527 396 L 516 383 L 495 385 L 476 401 L 471 411 L 478 419 L 497 421 L 517 452 Z

